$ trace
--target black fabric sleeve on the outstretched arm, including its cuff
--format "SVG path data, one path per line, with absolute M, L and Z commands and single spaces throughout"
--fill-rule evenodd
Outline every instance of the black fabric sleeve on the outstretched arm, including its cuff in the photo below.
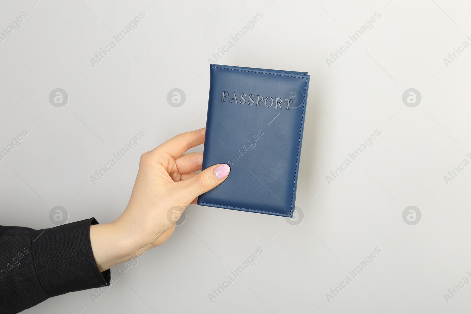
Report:
M 60 294 L 109 286 L 90 245 L 95 218 L 50 229 L 0 226 L 0 313 L 18 313 Z

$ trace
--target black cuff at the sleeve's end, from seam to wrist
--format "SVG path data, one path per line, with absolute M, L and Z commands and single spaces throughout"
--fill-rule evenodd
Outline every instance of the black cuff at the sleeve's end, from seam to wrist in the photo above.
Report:
M 90 225 L 96 224 L 90 218 L 34 232 L 34 266 L 49 297 L 109 286 L 110 270 L 100 273 L 91 250 Z

